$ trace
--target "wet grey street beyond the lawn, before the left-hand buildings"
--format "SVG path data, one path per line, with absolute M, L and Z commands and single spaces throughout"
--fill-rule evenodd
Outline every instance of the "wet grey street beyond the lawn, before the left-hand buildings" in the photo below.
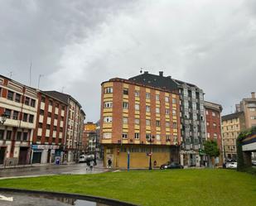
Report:
M 12 168 L 0 170 L 0 180 L 7 177 L 34 176 L 34 175 L 63 175 L 63 174 L 94 174 L 108 171 L 104 169 L 102 162 L 99 161 L 94 166 L 93 171 L 86 170 L 85 163 L 72 165 L 41 165 L 22 168 Z

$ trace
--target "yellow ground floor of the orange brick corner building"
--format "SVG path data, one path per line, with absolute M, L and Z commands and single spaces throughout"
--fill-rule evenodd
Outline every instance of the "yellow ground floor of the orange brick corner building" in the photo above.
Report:
M 160 167 L 167 161 L 179 161 L 179 149 L 177 146 L 159 145 L 120 145 L 104 144 L 104 166 L 108 166 L 109 160 L 114 168 L 148 168 L 150 156 L 152 167 Z

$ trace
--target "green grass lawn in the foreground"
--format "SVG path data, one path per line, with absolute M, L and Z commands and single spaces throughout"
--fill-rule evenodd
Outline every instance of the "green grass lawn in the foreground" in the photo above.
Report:
M 0 187 L 90 194 L 140 205 L 256 205 L 256 176 L 235 170 L 56 175 L 1 180 Z

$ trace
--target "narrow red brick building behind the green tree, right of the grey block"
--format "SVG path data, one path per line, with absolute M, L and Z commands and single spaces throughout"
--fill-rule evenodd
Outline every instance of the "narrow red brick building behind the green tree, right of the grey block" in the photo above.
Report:
M 205 101 L 206 139 L 217 141 L 220 149 L 220 156 L 215 160 L 215 163 L 219 163 L 219 165 L 222 165 L 224 160 L 221 133 L 221 112 L 222 107 L 220 104 Z

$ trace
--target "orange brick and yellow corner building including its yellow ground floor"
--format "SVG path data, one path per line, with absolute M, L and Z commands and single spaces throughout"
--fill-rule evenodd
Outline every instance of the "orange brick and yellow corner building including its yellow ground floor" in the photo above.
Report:
M 179 159 L 179 93 L 169 79 L 162 82 L 157 75 L 152 78 L 150 83 L 134 77 L 101 84 L 104 165 L 111 160 L 118 168 L 146 168 L 150 156 L 155 166 Z

